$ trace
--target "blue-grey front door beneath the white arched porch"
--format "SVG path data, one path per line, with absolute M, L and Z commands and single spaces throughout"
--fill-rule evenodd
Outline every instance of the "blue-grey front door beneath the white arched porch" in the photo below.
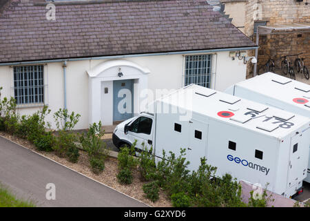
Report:
M 113 81 L 113 121 L 122 121 L 133 116 L 134 81 Z

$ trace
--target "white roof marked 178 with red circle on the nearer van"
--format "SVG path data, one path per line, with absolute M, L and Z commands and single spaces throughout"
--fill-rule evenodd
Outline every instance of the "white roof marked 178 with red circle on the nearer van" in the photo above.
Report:
M 184 110 L 192 111 L 278 139 L 306 124 L 308 127 L 310 125 L 310 119 L 307 117 L 195 84 L 176 90 L 174 93 L 157 99 L 156 102 L 176 106 L 178 111 L 183 110 L 181 115 L 184 116 Z M 161 108 L 165 107 L 161 106 Z

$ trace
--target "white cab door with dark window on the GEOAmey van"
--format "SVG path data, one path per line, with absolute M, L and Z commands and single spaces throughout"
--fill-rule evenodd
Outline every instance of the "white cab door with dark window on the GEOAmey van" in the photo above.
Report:
M 136 148 L 143 149 L 143 144 L 150 148 L 153 144 L 153 119 L 147 116 L 138 117 L 130 124 L 127 135 L 132 144 L 136 140 Z

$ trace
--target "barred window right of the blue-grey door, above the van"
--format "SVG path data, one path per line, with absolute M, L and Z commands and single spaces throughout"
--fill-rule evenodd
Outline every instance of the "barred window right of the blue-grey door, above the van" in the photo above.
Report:
M 185 86 L 198 84 L 210 88 L 212 55 L 190 55 L 185 57 Z

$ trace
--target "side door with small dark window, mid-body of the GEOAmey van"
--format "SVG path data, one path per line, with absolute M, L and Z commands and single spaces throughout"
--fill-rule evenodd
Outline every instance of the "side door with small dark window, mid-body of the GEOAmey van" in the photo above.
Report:
M 207 156 L 207 133 L 209 125 L 191 119 L 189 122 L 189 147 L 187 148 L 187 160 L 189 169 L 197 170 L 200 166 L 200 158 Z

